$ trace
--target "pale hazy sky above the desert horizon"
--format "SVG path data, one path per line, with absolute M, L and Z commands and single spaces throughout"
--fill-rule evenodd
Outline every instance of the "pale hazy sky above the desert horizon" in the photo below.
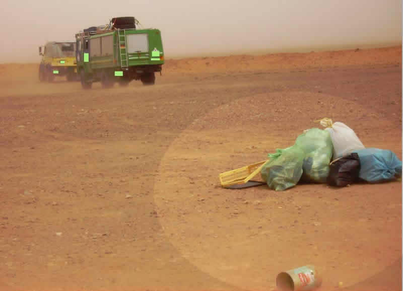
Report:
M 0 62 L 39 62 L 39 45 L 119 16 L 159 28 L 169 58 L 401 44 L 401 15 L 400 0 L 3 0 Z

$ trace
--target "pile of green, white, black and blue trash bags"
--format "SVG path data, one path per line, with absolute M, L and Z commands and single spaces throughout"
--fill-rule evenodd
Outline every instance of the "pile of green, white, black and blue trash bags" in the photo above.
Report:
M 344 187 L 359 180 L 379 183 L 401 177 L 401 161 L 393 152 L 366 149 L 342 122 L 318 121 L 325 129 L 307 129 L 291 147 L 268 154 L 270 161 L 260 174 L 269 188 L 283 191 L 300 182 Z

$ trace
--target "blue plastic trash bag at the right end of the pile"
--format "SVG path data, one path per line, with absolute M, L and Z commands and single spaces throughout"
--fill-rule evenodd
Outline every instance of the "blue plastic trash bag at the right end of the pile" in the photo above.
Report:
M 378 183 L 401 177 L 401 161 L 392 151 L 369 148 L 354 153 L 357 153 L 360 159 L 361 179 Z

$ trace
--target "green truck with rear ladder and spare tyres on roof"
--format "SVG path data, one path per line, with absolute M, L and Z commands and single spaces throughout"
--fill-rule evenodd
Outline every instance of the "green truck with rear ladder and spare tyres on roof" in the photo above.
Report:
M 93 82 L 104 88 L 132 80 L 155 84 L 155 72 L 161 74 L 164 64 L 161 31 L 138 29 L 138 24 L 134 17 L 117 17 L 76 34 L 77 72 L 84 89 Z

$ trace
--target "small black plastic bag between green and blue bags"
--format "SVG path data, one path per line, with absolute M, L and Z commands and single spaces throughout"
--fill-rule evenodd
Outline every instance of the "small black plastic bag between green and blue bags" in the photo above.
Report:
M 358 181 L 360 174 L 360 159 L 357 153 L 334 161 L 330 165 L 327 184 L 336 187 L 345 187 Z

